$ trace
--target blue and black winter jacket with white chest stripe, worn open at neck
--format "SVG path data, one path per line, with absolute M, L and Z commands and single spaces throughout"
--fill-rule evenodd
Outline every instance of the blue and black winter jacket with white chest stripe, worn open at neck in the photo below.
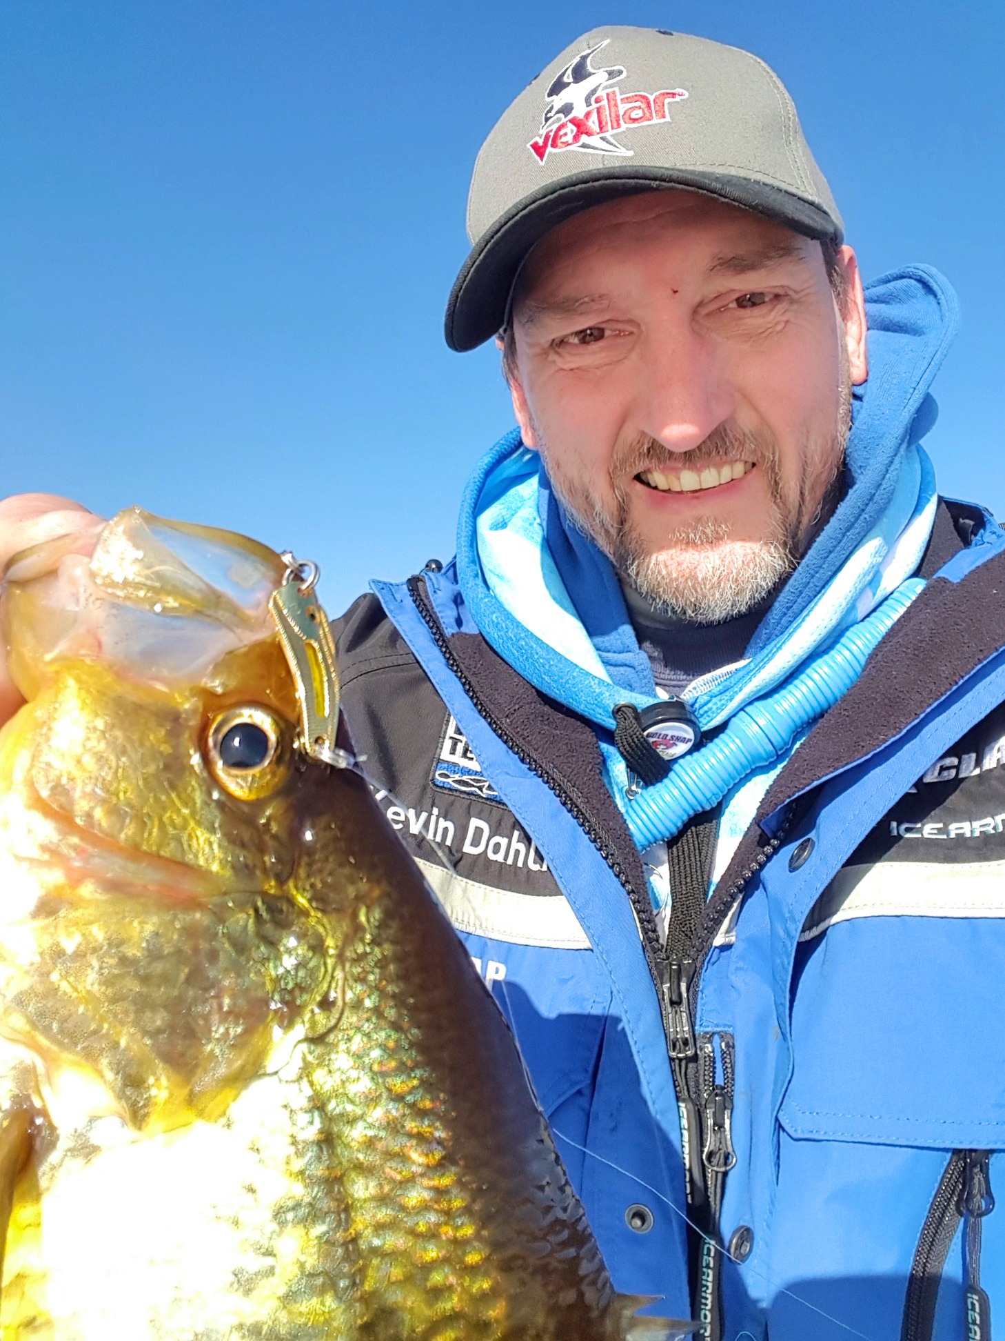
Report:
M 355 747 L 512 1023 L 615 1285 L 708 1337 L 1005 1318 L 1005 536 L 943 502 L 921 571 L 678 963 L 643 933 L 603 728 L 493 650 L 453 565 L 338 629 Z

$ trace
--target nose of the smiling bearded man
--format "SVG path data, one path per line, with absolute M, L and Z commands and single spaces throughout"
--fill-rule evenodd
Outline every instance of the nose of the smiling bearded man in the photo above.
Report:
M 718 350 L 681 323 L 653 338 L 646 354 L 639 426 L 669 452 L 690 452 L 736 408 Z

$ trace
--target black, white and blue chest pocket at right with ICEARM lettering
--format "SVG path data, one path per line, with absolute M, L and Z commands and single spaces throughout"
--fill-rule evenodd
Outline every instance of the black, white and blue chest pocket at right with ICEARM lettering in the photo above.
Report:
M 793 1136 L 1005 1147 L 1005 708 L 866 837 L 800 936 Z

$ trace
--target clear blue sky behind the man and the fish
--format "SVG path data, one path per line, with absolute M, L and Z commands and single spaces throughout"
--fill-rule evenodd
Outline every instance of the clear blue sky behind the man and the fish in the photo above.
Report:
M 600 23 L 764 56 L 866 275 L 953 280 L 930 448 L 1005 512 L 1005 5 L 931 0 L 0 0 L 0 492 L 292 546 L 332 611 L 452 552 L 511 425 L 441 335 L 470 166 Z

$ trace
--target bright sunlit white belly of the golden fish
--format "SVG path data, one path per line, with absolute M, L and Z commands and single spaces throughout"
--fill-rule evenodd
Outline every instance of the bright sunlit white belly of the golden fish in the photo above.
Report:
M 99 1117 L 60 1132 L 40 1168 L 38 1246 L 9 1244 L 4 1341 L 324 1336 L 316 1307 L 289 1305 L 326 1218 L 304 1181 L 304 1149 L 318 1144 L 306 1088 L 279 1075 L 252 1082 L 217 1122 L 142 1137 Z

